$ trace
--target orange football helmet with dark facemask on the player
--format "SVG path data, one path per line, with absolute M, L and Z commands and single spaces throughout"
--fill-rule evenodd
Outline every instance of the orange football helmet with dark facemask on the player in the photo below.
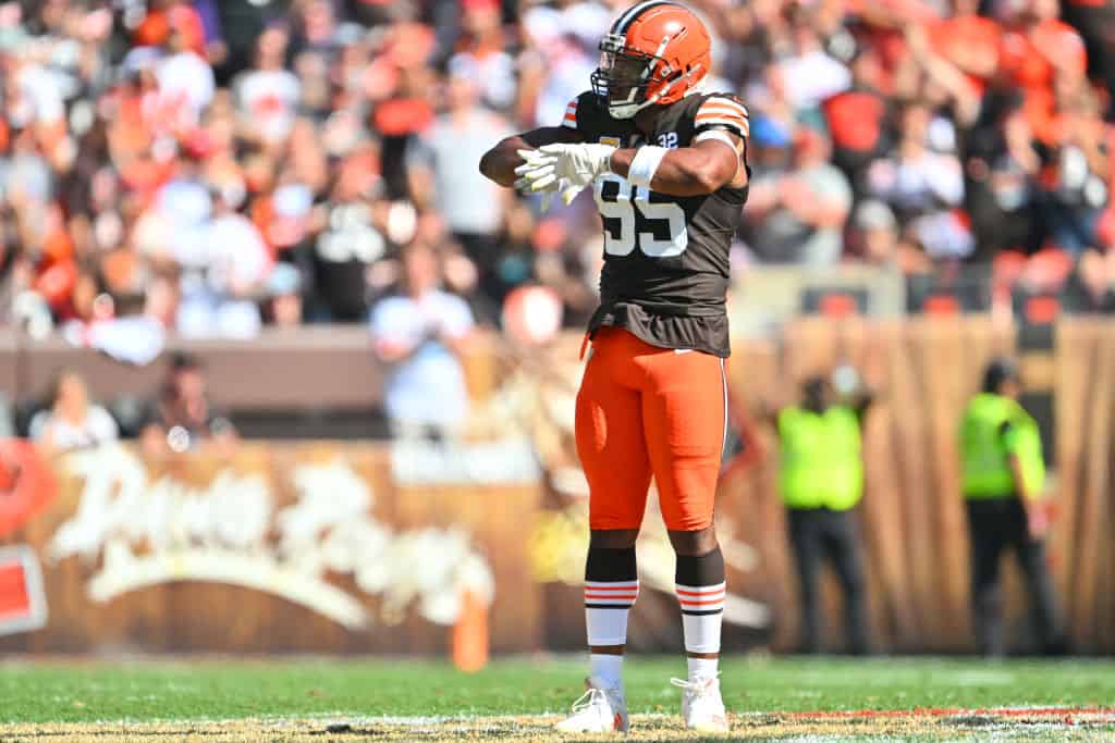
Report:
M 620 119 L 677 102 L 708 75 L 710 46 L 708 30 L 688 8 L 667 0 L 640 2 L 600 40 L 592 89 Z

